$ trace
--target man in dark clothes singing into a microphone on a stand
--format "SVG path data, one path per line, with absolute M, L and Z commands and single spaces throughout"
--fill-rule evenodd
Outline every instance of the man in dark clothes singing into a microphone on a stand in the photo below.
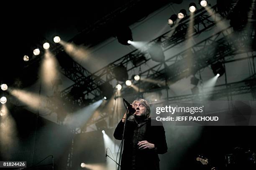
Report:
M 163 124 L 151 120 L 146 100 L 136 99 L 132 108 L 125 125 L 121 170 L 159 170 L 158 154 L 167 152 Z M 124 122 L 125 115 L 114 132 L 117 140 L 122 140 Z

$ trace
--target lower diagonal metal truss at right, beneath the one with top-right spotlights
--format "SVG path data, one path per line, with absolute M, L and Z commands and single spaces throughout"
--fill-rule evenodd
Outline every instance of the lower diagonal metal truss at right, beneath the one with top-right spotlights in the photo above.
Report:
M 198 70 L 215 61 L 223 60 L 225 57 L 225 61 L 228 61 L 232 59 L 230 58 L 232 55 L 247 53 L 251 45 L 248 42 L 252 42 L 254 36 L 254 30 L 244 30 L 235 34 L 233 28 L 226 28 L 172 56 L 165 63 L 159 63 L 142 72 L 141 76 L 159 81 L 168 80 L 169 83 L 174 83 L 179 79 L 195 74 Z M 146 88 L 148 83 L 143 82 L 140 85 L 141 88 Z

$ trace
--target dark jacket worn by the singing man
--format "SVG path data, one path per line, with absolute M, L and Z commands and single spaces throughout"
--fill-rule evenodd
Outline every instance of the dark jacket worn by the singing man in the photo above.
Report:
M 151 121 L 158 126 L 151 126 Z M 127 121 L 124 135 L 124 147 L 121 160 L 121 170 L 131 170 L 132 153 L 133 153 L 133 131 L 137 126 L 134 121 Z M 124 123 L 120 121 L 115 129 L 114 137 L 122 140 Z M 146 123 L 146 132 L 144 140 L 153 143 L 156 149 L 137 150 L 136 152 L 136 170 L 159 170 L 158 154 L 167 152 L 167 144 L 165 139 L 165 131 L 163 124 L 154 119 L 149 119 Z

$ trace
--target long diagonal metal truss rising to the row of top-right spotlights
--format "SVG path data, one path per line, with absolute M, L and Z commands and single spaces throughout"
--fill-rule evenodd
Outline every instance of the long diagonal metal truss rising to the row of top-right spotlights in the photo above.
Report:
M 218 12 L 216 9 L 216 5 L 212 7 L 212 10 L 214 13 Z M 194 20 L 195 20 L 194 32 L 192 35 L 189 35 L 189 36 L 195 36 L 197 34 L 200 34 L 202 33 L 202 31 L 205 31 L 211 28 L 213 25 L 215 25 L 215 23 L 219 21 L 216 18 L 212 17 L 210 14 L 208 14 L 204 8 L 198 10 L 195 13 Z M 126 66 L 127 71 L 129 72 L 135 69 L 136 67 L 141 66 L 142 64 L 145 64 L 150 59 L 150 56 L 146 49 L 147 46 L 152 46 L 155 43 L 159 43 L 159 40 L 161 40 L 161 46 L 164 49 L 164 51 L 173 46 L 176 46 L 177 44 L 186 40 L 188 24 L 189 24 L 189 16 L 182 19 L 177 27 L 172 27 L 172 29 L 167 33 L 164 33 L 163 35 L 149 42 L 145 46 L 144 51 L 140 51 L 136 49 L 131 53 L 128 53 L 127 55 L 114 61 L 113 63 L 108 64 L 108 66 L 105 66 L 99 71 L 96 71 L 94 74 L 87 75 L 85 76 L 86 78 L 83 78 L 83 79 L 77 79 L 77 80 L 81 80 L 82 83 L 76 82 L 74 85 L 68 87 L 67 89 L 64 89 L 61 92 L 61 95 L 66 97 L 73 87 L 80 86 L 79 84 L 83 84 L 84 86 L 84 82 L 83 82 L 84 80 L 86 80 L 87 84 L 89 85 L 93 84 L 93 86 L 91 86 L 88 89 L 86 89 L 86 86 L 84 86 L 85 88 L 84 94 L 91 93 L 91 91 L 96 90 L 100 85 L 102 85 L 104 81 L 108 82 L 115 79 L 113 72 L 116 67 L 120 65 Z M 141 58 L 142 58 L 141 62 L 137 62 L 136 64 L 134 63 L 134 61 L 139 60 Z M 67 73 L 65 73 L 64 75 L 66 74 Z M 93 81 L 93 83 L 91 81 Z

